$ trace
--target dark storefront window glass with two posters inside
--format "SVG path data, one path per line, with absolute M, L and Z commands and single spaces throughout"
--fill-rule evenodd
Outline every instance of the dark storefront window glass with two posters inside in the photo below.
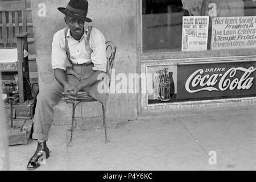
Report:
M 256 48 L 256 0 L 143 0 L 143 52 Z

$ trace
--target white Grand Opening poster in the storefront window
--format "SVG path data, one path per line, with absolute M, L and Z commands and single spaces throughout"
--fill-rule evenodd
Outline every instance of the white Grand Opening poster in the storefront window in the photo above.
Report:
M 183 16 L 182 51 L 207 50 L 209 16 Z

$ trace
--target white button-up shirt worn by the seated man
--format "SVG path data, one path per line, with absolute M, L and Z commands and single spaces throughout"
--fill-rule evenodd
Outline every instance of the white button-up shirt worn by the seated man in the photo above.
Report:
M 52 40 L 52 69 L 63 69 L 70 65 L 65 50 L 65 28 L 57 31 Z M 75 64 L 84 64 L 88 61 L 92 61 L 94 64 L 94 71 L 106 72 L 106 45 L 105 38 L 101 31 L 96 28 L 92 28 L 90 33 L 90 48 L 93 52 L 91 55 L 85 49 L 85 40 L 88 35 L 88 27 L 85 27 L 84 36 L 80 40 L 76 40 L 71 36 L 68 29 L 67 39 L 70 57 Z

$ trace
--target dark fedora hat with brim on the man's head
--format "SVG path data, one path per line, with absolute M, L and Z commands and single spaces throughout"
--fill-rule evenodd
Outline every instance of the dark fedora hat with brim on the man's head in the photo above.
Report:
M 88 13 L 87 0 L 71 0 L 66 8 L 59 7 L 58 10 L 65 15 L 71 16 L 72 18 L 80 19 L 85 22 L 92 22 L 91 19 L 86 17 Z

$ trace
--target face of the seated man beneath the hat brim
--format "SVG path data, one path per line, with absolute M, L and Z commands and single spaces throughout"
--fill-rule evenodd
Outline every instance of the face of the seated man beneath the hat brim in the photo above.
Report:
M 72 36 L 82 36 L 84 34 L 84 21 L 72 18 L 71 16 L 65 17 L 65 22 L 67 23 L 69 29 L 71 30 Z

